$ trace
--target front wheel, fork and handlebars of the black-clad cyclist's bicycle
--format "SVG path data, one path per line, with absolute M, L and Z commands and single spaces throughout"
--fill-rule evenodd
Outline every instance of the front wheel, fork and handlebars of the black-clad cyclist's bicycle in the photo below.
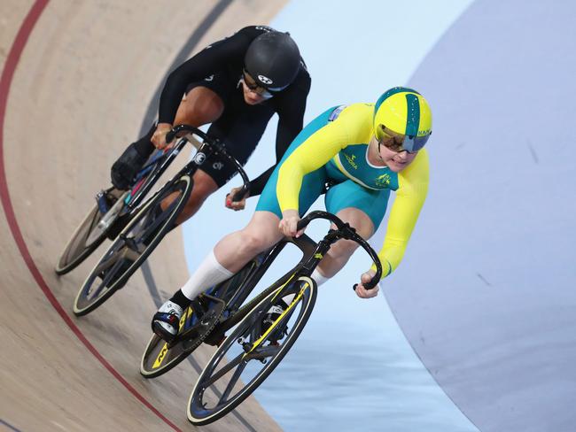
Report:
M 167 232 L 174 228 L 176 218 L 191 195 L 194 186 L 193 175 L 208 156 L 219 154 L 235 166 L 244 181 L 244 186 L 232 199 L 237 201 L 245 196 L 248 190 L 248 177 L 224 144 L 198 128 L 188 125 L 173 127 L 167 134 L 167 143 L 170 143 L 175 136 L 181 135 L 184 136 L 175 144 L 171 154 L 183 150 L 186 143 L 191 143 L 197 149 L 196 154 L 161 189 L 132 211 L 128 224 L 113 240 L 78 291 L 74 300 L 76 316 L 92 312 L 114 292 L 121 289 Z

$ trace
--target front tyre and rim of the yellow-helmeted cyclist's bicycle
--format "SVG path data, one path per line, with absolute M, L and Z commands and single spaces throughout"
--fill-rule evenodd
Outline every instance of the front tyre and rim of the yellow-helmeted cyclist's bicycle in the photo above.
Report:
M 276 294 L 279 291 L 286 289 L 287 287 L 276 289 L 275 291 L 270 293 L 269 296 L 264 297 L 258 305 L 255 305 L 252 311 L 249 312 L 245 316 L 245 318 L 239 322 L 237 328 L 235 328 L 234 331 L 232 331 L 230 335 L 226 337 L 226 339 L 222 342 L 218 350 L 214 352 L 214 355 L 208 361 L 202 373 L 198 376 L 198 381 L 194 384 L 194 387 L 191 391 L 191 396 L 188 399 L 187 417 L 192 424 L 196 426 L 206 425 L 216 420 L 219 420 L 227 413 L 230 413 L 230 411 L 236 408 L 237 405 L 240 405 L 245 400 L 246 397 L 252 395 L 253 391 L 256 390 L 260 386 L 260 384 L 269 376 L 269 374 L 272 373 L 272 371 L 276 368 L 276 366 L 278 366 L 280 361 L 284 358 L 285 354 L 292 348 L 293 343 L 296 342 L 296 339 L 298 339 L 298 336 L 300 336 L 302 329 L 306 326 L 307 320 L 310 317 L 310 314 L 312 313 L 312 310 L 315 305 L 315 297 L 317 292 L 316 283 L 311 278 L 301 276 L 296 281 L 291 282 L 289 287 L 292 284 L 296 283 L 299 284 L 300 288 L 293 287 L 292 290 L 303 289 L 304 286 L 309 287 L 309 289 L 303 289 L 303 295 L 301 297 L 303 302 L 302 307 L 296 318 L 296 321 L 292 325 L 292 331 L 290 332 L 290 334 L 285 336 L 284 342 L 280 345 L 280 348 L 277 349 L 272 359 L 270 359 L 267 363 L 265 363 L 262 366 L 261 371 L 255 374 L 252 380 L 246 383 L 241 390 L 237 391 L 237 393 L 233 397 L 231 397 L 230 399 L 226 400 L 223 403 L 221 403 L 222 402 L 221 398 L 221 401 L 219 401 L 218 405 L 216 405 L 214 408 L 206 407 L 207 403 L 203 401 L 203 396 L 205 391 L 209 389 L 210 386 L 212 385 L 209 384 L 206 387 L 206 382 L 209 382 L 215 370 L 218 368 L 221 360 L 224 359 L 226 352 L 230 350 L 230 348 L 232 347 L 232 345 L 234 345 L 234 343 L 237 343 L 237 339 L 239 337 L 245 335 L 247 332 L 250 332 L 253 329 L 253 325 L 255 322 L 260 322 L 263 313 L 267 312 L 269 310 L 269 307 L 273 305 Z M 264 335 L 266 335 L 266 333 Z M 271 333 L 268 333 L 268 335 L 270 336 Z M 266 338 L 262 342 L 266 342 Z M 240 355 L 237 356 L 237 358 L 240 356 L 243 356 L 244 358 L 245 355 L 240 353 Z M 222 369 L 225 369 L 226 367 L 229 366 L 225 366 Z M 242 370 L 244 370 L 244 367 Z M 218 374 L 222 373 L 222 369 L 218 370 Z M 239 379 L 240 376 L 237 377 L 237 380 Z M 226 393 L 227 391 L 228 389 L 225 390 L 224 393 Z M 218 393 L 221 392 L 219 390 L 214 391 L 216 397 L 220 397 Z

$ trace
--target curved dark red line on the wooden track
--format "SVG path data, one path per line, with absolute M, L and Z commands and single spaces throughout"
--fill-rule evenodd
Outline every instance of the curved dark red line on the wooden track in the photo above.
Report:
M 32 33 L 36 22 L 40 18 L 40 15 L 42 14 L 49 1 L 50 0 L 35 1 L 35 4 L 28 12 L 26 19 L 24 19 L 22 22 L 22 26 L 19 28 L 18 35 L 16 35 L 16 38 L 12 43 L 12 48 L 8 54 L 8 57 L 6 58 L 2 77 L 0 78 L 0 200 L 4 206 L 4 214 L 6 215 L 8 226 L 12 231 L 14 241 L 18 246 L 22 258 L 24 258 L 24 262 L 30 270 L 30 273 L 34 277 L 40 289 L 42 289 L 44 296 L 48 298 L 48 301 L 50 301 L 51 305 L 54 307 L 54 309 L 56 309 L 56 312 L 58 312 L 62 320 L 66 322 L 68 328 L 72 330 L 74 335 L 80 339 L 88 351 L 90 351 L 92 355 L 96 357 L 102 366 L 105 366 L 108 372 L 113 374 L 113 377 L 121 382 L 121 384 L 130 393 L 132 393 L 136 399 L 138 399 L 143 405 L 150 409 L 152 413 L 156 414 L 160 420 L 164 421 L 170 428 L 182 432 L 180 428 L 176 427 L 174 423 L 162 415 L 160 411 L 158 411 L 150 402 L 148 402 L 144 396 L 138 393 L 138 391 L 132 387 L 129 382 L 126 381 L 124 377 L 122 377 L 122 375 L 116 369 L 114 369 L 110 363 L 108 363 L 104 356 L 102 356 L 102 354 L 97 351 L 97 349 L 94 347 L 94 345 L 92 345 L 92 343 L 90 343 L 86 336 L 82 334 L 82 331 L 74 324 L 74 321 L 70 319 L 62 305 L 58 303 L 58 299 L 54 296 L 48 284 L 43 280 L 42 274 L 38 270 L 38 267 L 35 265 L 34 258 L 32 258 L 30 252 L 28 251 L 27 244 L 24 241 L 24 237 L 22 236 L 22 232 L 20 231 L 18 225 L 18 221 L 16 220 L 16 215 L 14 213 L 12 201 L 10 198 L 10 192 L 8 190 L 8 182 L 6 181 L 6 171 L 4 169 L 4 118 L 6 114 L 6 105 L 8 102 L 8 92 L 12 84 L 14 71 L 16 70 L 16 66 L 18 66 L 19 58 L 22 54 L 22 51 L 24 50 L 24 47 L 26 46 L 28 37 Z

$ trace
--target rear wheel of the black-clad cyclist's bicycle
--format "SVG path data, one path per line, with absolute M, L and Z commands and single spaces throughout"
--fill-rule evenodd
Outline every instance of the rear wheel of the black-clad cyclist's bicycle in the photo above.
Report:
M 106 204 L 112 206 L 122 193 L 118 189 L 107 189 L 104 191 L 103 199 Z M 55 268 L 56 274 L 66 274 L 74 270 L 104 242 L 108 228 L 99 226 L 103 216 L 104 213 L 100 211 L 97 204 L 94 204 L 60 254 Z

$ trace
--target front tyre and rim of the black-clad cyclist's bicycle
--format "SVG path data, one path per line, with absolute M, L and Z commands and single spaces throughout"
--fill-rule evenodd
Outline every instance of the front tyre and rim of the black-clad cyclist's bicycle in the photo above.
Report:
M 183 175 L 180 179 L 172 183 L 169 187 L 165 187 L 160 189 L 151 199 L 145 202 L 141 209 L 136 212 L 135 216 L 128 222 L 126 228 L 121 231 L 121 235 L 119 235 L 110 247 L 105 251 L 102 255 L 100 260 L 97 262 L 97 265 L 92 268 L 92 271 L 82 284 L 81 289 L 78 290 L 78 294 L 74 299 L 74 308 L 73 312 L 76 316 L 83 316 L 86 315 L 95 309 L 98 306 L 105 303 L 105 301 L 112 297 L 113 293 L 120 289 L 126 282 L 128 282 L 129 277 L 136 272 L 139 266 L 144 263 L 146 258 L 152 253 L 152 251 L 156 248 L 156 246 L 160 243 L 164 235 L 167 234 L 167 231 L 170 229 L 172 222 L 177 218 L 178 214 L 182 212 L 184 205 L 187 203 L 188 198 L 191 194 L 191 189 L 193 187 L 193 181 L 189 175 Z M 167 218 L 162 221 L 163 226 L 158 229 L 158 231 L 154 234 L 152 240 L 145 246 L 144 250 L 139 253 L 139 256 L 132 261 L 132 264 L 127 266 L 126 268 L 120 269 L 122 271 L 120 277 L 117 277 L 113 282 L 107 282 L 104 284 L 105 279 L 103 279 L 103 283 L 100 284 L 99 291 L 97 293 L 97 297 L 88 298 L 90 296 L 90 289 L 92 288 L 92 284 L 97 280 L 99 275 L 101 274 L 104 266 L 107 264 L 108 261 L 111 261 L 114 257 L 114 254 L 119 253 L 122 248 L 125 249 L 126 255 L 132 253 L 128 251 L 128 247 L 125 247 L 126 244 L 126 235 L 136 227 L 144 218 L 147 216 L 148 212 L 151 212 L 152 209 L 160 203 L 165 197 L 170 195 L 171 193 L 175 192 L 178 189 L 182 188 L 182 194 L 180 197 L 176 198 L 177 202 L 171 205 L 174 205 L 172 212 L 169 213 Z M 136 253 L 136 252 L 135 252 Z M 126 259 L 126 257 L 116 258 L 116 261 L 112 263 L 112 266 L 117 266 L 121 260 Z M 111 269 L 113 271 L 113 268 Z M 105 285 L 105 286 L 102 286 Z

